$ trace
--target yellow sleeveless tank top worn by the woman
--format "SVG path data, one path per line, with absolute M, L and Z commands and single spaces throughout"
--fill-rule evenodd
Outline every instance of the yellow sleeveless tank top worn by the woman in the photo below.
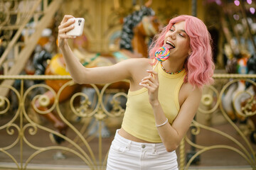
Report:
M 159 102 L 169 123 L 173 123 L 180 110 L 178 93 L 186 72 L 183 70 L 178 74 L 168 74 L 161 68 L 160 63 L 156 65 L 156 72 L 159 76 Z M 156 129 L 156 121 L 146 88 L 128 91 L 122 128 L 139 139 L 162 142 Z

